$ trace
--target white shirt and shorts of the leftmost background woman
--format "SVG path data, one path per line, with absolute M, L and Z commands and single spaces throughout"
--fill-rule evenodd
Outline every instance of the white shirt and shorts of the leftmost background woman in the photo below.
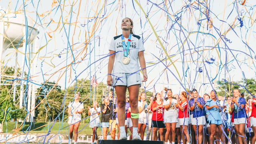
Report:
M 68 108 L 71 108 L 71 114 L 73 116 L 69 116 L 68 118 L 68 124 L 74 124 L 76 122 L 81 121 L 81 114 L 75 114 L 75 112 L 80 111 L 81 109 L 84 109 L 84 104 L 81 104 L 81 102 L 70 102 L 68 104 Z

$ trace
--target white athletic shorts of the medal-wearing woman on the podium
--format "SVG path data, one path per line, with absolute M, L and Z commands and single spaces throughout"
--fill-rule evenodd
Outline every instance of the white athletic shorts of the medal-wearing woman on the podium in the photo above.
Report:
M 131 74 L 130 73 L 115 73 L 112 76 L 113 84 L 112 86 L 132 86 L 135 84 L 140 84 L 140 73 Z

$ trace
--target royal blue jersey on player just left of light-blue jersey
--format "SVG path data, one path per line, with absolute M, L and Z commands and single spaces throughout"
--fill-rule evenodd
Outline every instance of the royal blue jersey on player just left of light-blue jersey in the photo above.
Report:
M 199 102 L 199 104 L 204 105 L 204 98 L 197 98 L 197 101 Z M 198 118 L 200 116 L 205 116 L 205 111 L 204 108 L 201 109 L 199 108 L 199 106 L 197 105 L 197 103 L 194 103 L 194 98 L 190 100 L 190 107 L 193 106 L 193 104 L 195 104 L 194 110 L 193 110 L 193 118 Z

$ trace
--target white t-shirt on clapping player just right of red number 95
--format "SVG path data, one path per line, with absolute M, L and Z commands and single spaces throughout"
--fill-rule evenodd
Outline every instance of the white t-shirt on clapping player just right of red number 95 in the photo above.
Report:
M 165 98 L 163 102 L 163 106 L 168 104 L 170 104 L 170 100 L 169 98 Z M 176 104 L 177 104 L 176 98 L 172 97 L 172 103 L 170 105 L 169 110 L 164 109 L 164 116 L 176 116 L 177 115 Z

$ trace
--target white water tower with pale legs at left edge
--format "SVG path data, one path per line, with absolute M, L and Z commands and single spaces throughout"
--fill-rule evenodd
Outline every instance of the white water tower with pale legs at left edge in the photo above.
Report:
M 15 62 L 15 72 L 16 74 L 14 75 L 13 79 L 18 78 L 24 79 L 24 71 L 23 71 L 23 66 L 25 66 L 24 70 L 28 69 L 26 67 L 26 64 L 24 65 L 24 59 L 25 59 L 25 52 L 26 56 L 29 54 L 30 50 L 30 58 L 34 58 L 36 55 L 34 54 L 37 51 L 37 41 L 38 38 L 36 37 L 39 34 L 39 29 L 35 28 L 33 20 L 23 13 L 18 13 L 15 12 L 14 10 L 11 10 L 10 12 L 4 12 L 4 10 L 1 10 L 2 8 L 0 7 L 0 12 L 2 13 L 2 20 L 0 20 L 0 59 L 2 60 L 2 54 L 8 49 L 8 48 L 15 48 L 16 50 L 16 62 Z M 22 49 L 22 50 L 21 50 Z M 22 51 L 22 53 L 21 53 Z M 19 66 L 22 70 L 22 75 L 17 76 L 17 61 L 18 61 L 18 53 L 19 56 L 22 55 L 22 61 L 19 62 Z M 28 62 L 28 58 L 27 62 Z M 1 64 L 0 63 L 0 74 L 1 73 Z M 30 69 L 30 74 L 35 75 L 36 74 L 36 59 L 34 59 L 34 62 L 32 63 L 32 67 Z M 31 78 L 33 81 L 35 78 Z M 24 100 L 26 100 L 26 97 L 24 98 L 24 84 L 26 84 L 26 81 L 18 81 L 19 84 L 21 84 L 21 90 L 20 90 L 20 108 L 22 108 L 22 105 L 25 106 Z M 0 81 L 0 83 L 3 83 Z M 14 101 L 15 101 L 15 96 L 16 96 L 16 84 L 17 81 L 14 81 L 14 88 L 13 88 L 13 95 L 14 95 Z M 27 103 L 27 109 L 33 110 L 35 108 L 35 85 L 32 83 L 28 83 L 28 103 Z M 31 97 L 31 92 L 32 92 L 32 97 Z M 23 100 L 24 99 L 24 100 Z M 24 103 L 24 104 L 23 104 Z M 30 105 L 31 104 L 31 105 Z M 32 116 L 34 116 L 34 111 L 31 113 Z M 30 116 L 28 116 L 28 120 L 30 121 Z

